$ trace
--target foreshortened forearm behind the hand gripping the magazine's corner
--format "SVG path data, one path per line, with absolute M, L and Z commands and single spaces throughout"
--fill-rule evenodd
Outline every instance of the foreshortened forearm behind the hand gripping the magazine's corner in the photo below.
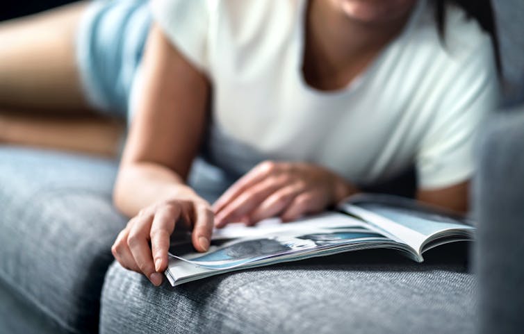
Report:
M 120 167 L 113 191 L 115 206 L 129 217 L 154 203 L 196 196 L 176 172 L 154 162 L 131 162 Z

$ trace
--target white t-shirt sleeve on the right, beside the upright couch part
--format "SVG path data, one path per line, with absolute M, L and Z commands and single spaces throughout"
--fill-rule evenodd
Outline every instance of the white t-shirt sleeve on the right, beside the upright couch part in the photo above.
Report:
M 421 189 L 449 187 L 475 172 L 474 146 L 480 124 L 498 104 L 498 78 L 491 41 L 460 57 L 450 70 L 436 117 L 420 142 L 416 169 Z

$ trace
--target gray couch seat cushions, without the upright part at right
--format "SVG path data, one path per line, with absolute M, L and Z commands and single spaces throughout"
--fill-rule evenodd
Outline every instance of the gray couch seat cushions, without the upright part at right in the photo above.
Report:
M 115 168 L 109 160 L 0 148 L 2 329 L 97 331 L 109 247 L 126 220 L 110 202 Z M 214 172 L 193 178 L 208 194 L 220 184 Z M 465 272 L 464 248 L 428 256 L 420 265 L 388 251 L 357 252 L 175 288 L 155 288 L 115 263 L 101 332 L 471 333 L 475 278 Z

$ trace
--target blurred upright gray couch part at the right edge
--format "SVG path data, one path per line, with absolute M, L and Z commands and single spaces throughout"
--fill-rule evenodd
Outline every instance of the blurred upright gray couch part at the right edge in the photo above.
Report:
M 475 178 L 480 333 L 524 330 L 524 108 L 490 119 Z

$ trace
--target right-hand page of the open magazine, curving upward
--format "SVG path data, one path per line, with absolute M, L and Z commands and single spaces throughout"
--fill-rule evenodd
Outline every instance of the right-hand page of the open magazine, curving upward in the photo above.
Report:
M 406 242 L 420 252 L 439 237 L 468 240 L 475 228 L 467 219 L 440 208 L 390 195 L 360 195 L 350 198 L 343 209 L 383 228 L 390 237 Z M 442 242 L 441 242 L 442 243 Z M 439 243 L 433 243 L 434 246 Z

